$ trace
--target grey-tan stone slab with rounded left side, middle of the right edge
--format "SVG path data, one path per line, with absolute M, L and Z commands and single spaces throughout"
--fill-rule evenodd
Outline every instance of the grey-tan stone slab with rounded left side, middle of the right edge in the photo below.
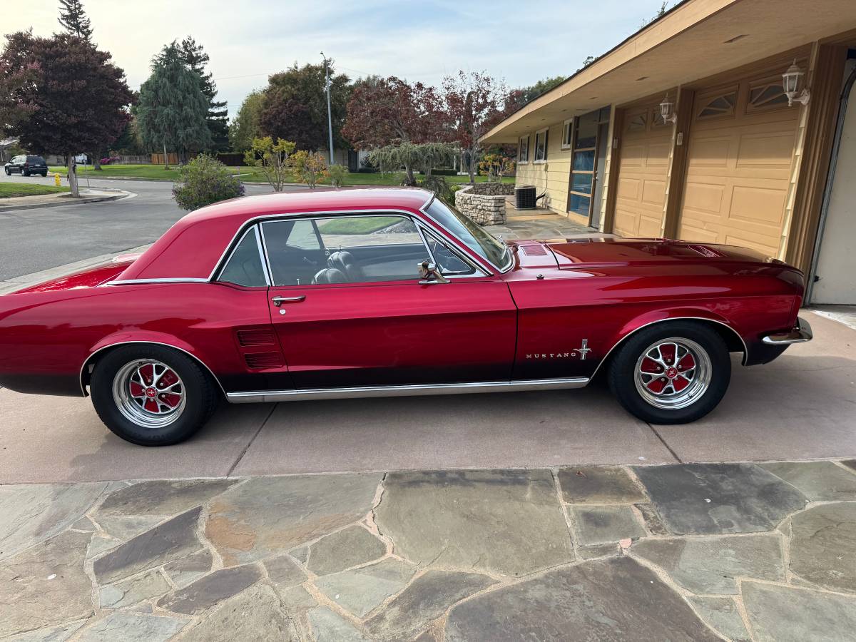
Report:
M 790 566 L 811 584 L 856 592 L 856 502 L 825 504 L 794 515 Z

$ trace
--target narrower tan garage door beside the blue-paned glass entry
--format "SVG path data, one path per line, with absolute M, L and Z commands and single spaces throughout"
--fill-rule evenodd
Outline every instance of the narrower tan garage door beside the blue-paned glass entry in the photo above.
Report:
M 671 140 L 672 128 L 663 123 L 657 106 L 625 114 L 615 193 L 615 234 L 661 235 Z

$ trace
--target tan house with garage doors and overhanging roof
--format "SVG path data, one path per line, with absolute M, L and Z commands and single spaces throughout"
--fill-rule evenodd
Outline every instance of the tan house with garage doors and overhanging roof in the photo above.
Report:
M 752 247 L 856 304 L 854 79 L 853 0 L 684 0 L 482 142 L 593 229 Z

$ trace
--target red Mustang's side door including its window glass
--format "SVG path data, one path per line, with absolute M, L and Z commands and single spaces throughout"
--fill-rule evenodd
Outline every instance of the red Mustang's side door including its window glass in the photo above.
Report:
M 449 269 L 446 283 L 420 283 L 418 265 L 432 257 L 411 217 L 304 217 L 261 229 L 271 319 L 296 388 L 511 376 L 508 286 L 475 265 Z

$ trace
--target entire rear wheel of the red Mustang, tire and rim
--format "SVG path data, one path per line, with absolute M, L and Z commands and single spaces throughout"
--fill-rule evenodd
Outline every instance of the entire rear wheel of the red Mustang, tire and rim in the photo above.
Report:
M 92 405 L 110 431 L 141 446 L 191 437 L 217 403 L 210 377 L 173 348 L 134 344 L 99 360 L 90 382 Z

